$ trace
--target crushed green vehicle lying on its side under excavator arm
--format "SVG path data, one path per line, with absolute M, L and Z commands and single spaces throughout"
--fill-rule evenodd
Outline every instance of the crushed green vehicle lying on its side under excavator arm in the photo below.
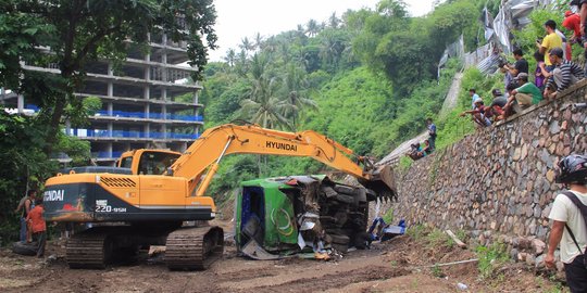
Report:
M 289 176 L 246 181 L 235 205 L 239 253 L 275 259 L 300 253 L 315 258 L 365 249 L 369 202 L 363 187 L 334 182 L 326 176 Z

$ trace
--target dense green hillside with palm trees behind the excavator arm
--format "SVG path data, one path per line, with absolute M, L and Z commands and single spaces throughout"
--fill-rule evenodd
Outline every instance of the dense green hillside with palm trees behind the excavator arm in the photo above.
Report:
M 423 131 L 425 118 L 440 110 L 461 65 L 451 61 L 438 76 L 438 62 L 461 34 L 467 50 L 479 44 L 477 18 L 486 2 L 446 1 L 426 16 L 411 17 L 402 1 L 384 0 L 374 10 L 243 38 L 207 71 L 205 127 L 241 119 L 288 131 L 313 129 L 358 154 L 383 157 Z M 489 9 L 494 2 L 499 1 L 489 1 Z M 232 157 L 212 191 L 251 177 L 321 168 L 302 158 Z

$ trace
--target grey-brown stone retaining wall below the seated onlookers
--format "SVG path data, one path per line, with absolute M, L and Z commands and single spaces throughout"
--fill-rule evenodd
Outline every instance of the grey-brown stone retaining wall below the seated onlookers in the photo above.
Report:
M 570 153 L 587 153 L 587 81 L 557 101 L 477 131 L 414 162 L 399 178 L 395 218 L 409 225 L 472 231 L 482 242 L 500 234 L 546 242 L 548 214 L 561 186 L 554 166 Z

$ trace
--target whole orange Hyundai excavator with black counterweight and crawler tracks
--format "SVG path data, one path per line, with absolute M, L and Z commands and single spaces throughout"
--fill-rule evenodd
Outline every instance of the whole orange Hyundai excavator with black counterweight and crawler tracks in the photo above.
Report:
M 78 167 L 49 178 L 45 217 L 86 226 L 67 241 L 71 268 L 104 268 L 141 246 L 165 245 L 170 269 L 205 269 L 222 255 L 224 232 L 208 225 L 216 206 L 204 194 L 222 158 L 237 153 L 312 157 L 377 196 L 396 195 L 390 167 L 376 168 L 317 132 L 227 124 L 204 131 L 183 154 L 137 150 L 124 153 L 117 167 Z

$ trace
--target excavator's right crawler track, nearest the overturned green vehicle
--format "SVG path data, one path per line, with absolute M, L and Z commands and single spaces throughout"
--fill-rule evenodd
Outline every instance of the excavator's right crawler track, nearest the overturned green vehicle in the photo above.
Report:
M 190 227 L 171 232 L 165 245 L 165 263 L 171 270 L 204 270 L 224 252 L 220 227 Z

